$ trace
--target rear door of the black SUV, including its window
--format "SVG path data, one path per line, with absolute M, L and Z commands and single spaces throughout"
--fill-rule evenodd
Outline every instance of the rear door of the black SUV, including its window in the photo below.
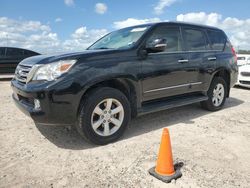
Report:
M 207 89 L 207 78 L 215 68 L 215 54 L 211 50 L 206 32 L 203 28 L 182 27 L 185 48 L 188 51 L 189 64 L 195 69 L 196 81 L 192 84 L 192 92 Z M 211 77 L 211 76 L 210 76 Z

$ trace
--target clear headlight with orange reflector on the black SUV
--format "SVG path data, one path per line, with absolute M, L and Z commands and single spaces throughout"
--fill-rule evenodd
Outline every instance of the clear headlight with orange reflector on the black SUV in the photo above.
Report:
M 62 60 L 46 65 L 38 66 L 32 80 L 55 80 L 76 63 L 76 60 Z

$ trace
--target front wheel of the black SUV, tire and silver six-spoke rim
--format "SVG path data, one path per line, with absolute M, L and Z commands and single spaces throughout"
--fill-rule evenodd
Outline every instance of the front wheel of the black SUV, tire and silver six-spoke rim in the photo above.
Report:
M 117 89 L 101 87 L 87 93 L 81 104 L 76 128 L 88 142 L 105 145 L 123 135 L 130 118 L 127 97 Z

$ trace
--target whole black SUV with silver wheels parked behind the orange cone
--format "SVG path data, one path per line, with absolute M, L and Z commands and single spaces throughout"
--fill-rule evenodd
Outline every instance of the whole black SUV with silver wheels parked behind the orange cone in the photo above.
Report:
M 236 61 L 220 29 L 154 23 L 111 32 L 84 52 L 27 58 L 11 85 L 36 123 L 74 124 L 87 140 L 107 144 L 137 115 L 195 102 L 221 109 Z

